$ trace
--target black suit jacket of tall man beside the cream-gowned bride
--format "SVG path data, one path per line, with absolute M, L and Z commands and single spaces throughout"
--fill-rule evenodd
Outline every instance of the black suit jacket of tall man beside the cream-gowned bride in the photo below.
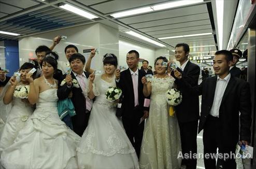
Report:
M 188 61 L 187 65 L 184 67 L 184 71 L 182 72 L 179 68 L 177 69 L 182 74 L 182 78 L 185 79 L 190 85 L 197 86 L 198 85 L 198 77 L 200 74 L 200 67 L 190 61 Z M 174 78 L 174 72 L 171 73 Z M 182 102 L 178 106 L 176 106 L 177 118 L 181 123 L 196 121 L 199 119 L 199 98 L 196 94 L 189 94 L 186 90 L 179 87 L 177 83 L 177 79 L 175 83 L 178 86 L 178 89 L 182 93 Z

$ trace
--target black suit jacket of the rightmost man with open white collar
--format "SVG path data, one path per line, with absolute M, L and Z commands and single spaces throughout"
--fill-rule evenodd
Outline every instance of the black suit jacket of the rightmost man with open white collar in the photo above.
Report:
M 201 116 L 198 127 L 198 132 L 200 132 L 202 129 L 204 129 L 204 125 L 207 122 L 207 116 L 210 114 L 212 103 L 214 102 L 217 76 L 206 78 L 199 86 L 193 88 L 183 78 L 178 80 L 178 83 L 180 86 L 182 86 L 182 88 L 186 88 L 187 92 L 190 94 L 202 94 Z M 236 145 L 239 139 L 250 142 L 251 99 L 248 82 L 231 76 L 222 97 L 219 109 L 219 119 L 222 129 L 221 136 L 224 141 L 224 145 Z

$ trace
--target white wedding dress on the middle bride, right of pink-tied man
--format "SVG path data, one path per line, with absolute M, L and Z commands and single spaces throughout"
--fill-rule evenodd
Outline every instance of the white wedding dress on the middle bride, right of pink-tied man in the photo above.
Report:
M 138 158 L 125 130 L 116 116 L 114 104 L 105 91 L 116 86 L 96 75 L 93 93 L 96 100 L 86 130 L 77 148 L 79 168 L 138 168 Z

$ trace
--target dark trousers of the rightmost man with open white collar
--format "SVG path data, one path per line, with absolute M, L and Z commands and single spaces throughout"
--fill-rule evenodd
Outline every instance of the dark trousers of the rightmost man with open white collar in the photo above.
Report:
M 226 146 L 228 145 L 228 143 L 225 143 L 224 146 L 221 131 L 222 129 L 219 118 L 208 115 L 203 133 L 205 169 L 216 169 L 216 159 L 207 159 L 205 158 L 205 154 L 214 155 L 217 153 L 217 148 L 219 148 L 218 152 L 219 155 L 222 155 L 222 157 L 225 155 L 230 155 L 232 153 L 234 153 L 235 155 L 236 145 Z M 232 158 L 225 159 L 225 161 L 219 156 L 218 165 L 222 165 L 223 169 L 236 169 L 236 162 L 234 156 Z

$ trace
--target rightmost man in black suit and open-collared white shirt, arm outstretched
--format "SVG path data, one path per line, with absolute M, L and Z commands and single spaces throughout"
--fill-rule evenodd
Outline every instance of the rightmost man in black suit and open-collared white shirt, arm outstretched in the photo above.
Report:
M 218 159 L 225 169 L 236 169 L 234 155 L 238 141 L 240 144 L 249 145 L 251 140 L 250 87 L 248 82 L 230 74 L 232 60 L 231 52 L 216 52 L 213 67 L 218 76 L 206 78 L 196 87 L 191 87 L 189 81 L 175 70 L 175 77 L 179 79 L 177 82 L 184 91 L 189 94 L 202 94 L 198 132 L 204 129 L 204 155 L 216 154 L 217 148 L 222 156 L 233 153 L 232 157 Z M 206 169 L 216 168 L 215 158 L 204 158 L 204 163 Z

